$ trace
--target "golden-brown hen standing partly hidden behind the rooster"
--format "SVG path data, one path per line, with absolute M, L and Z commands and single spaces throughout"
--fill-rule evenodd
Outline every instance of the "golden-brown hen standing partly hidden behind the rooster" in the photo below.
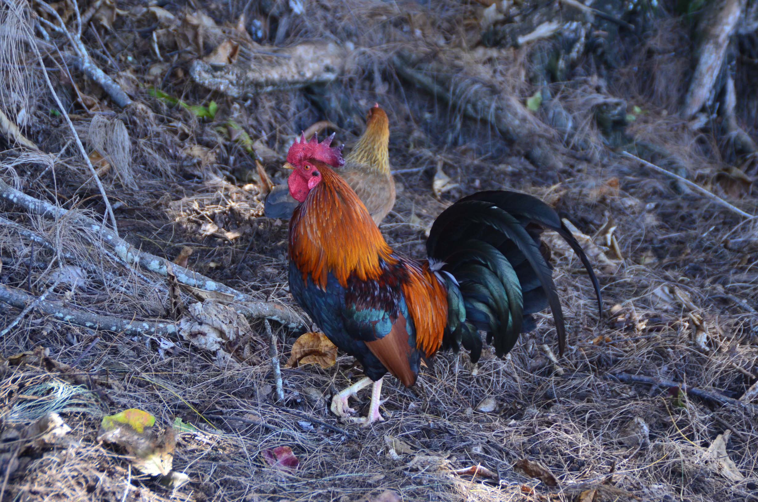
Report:
M 321 144 L 329 146 L 333 137 L 334 134 Z M 355 190 L 377 225 L 395 205 L 389 144 L 390 121 L 377 103 L 368 111 L 366 130 L 346 155 L 344 165 L 332 166 Z M 266 197 L 264 214 L 268 218 L 290 218 L 298 204 L 286 184 L 278 185 Z

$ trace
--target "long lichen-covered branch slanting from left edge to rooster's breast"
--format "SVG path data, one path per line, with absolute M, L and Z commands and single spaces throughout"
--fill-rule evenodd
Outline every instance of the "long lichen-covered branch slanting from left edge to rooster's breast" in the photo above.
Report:
M 141 267 L 147 268 L 156 274 L 163 275 L 164 277 L 167 275 L 169 263 L 167 259 L 133 248 L 126 240 L 121 239 L 113 231 L 98 224 L 92 218 L 53 206 L 50 202 L 35 199 L 20 190 L 16 190 L 3 180 L 0 180 L 0 199 L 5 199 L 14 206 L 21 207 L 28 212 L 44 216 L 45 218 L 70 218 L 69 221 L 81 227 L 91 228 L 92 231 L 99 234 L 103 242 L 111 246 L 116 255 L 128 265 L 138 263 Z M 85 234 L 85 237 L 91 240 L 91 236 L 88 234 Z M 302 318 L 287 306 L 260 301 L 252 295 L 242 293 L 225 284 L 213 281 L 211 278 L 207 278 L 205 275 L 198 274 L 188 268 L 176 264 L 171 266 L 177 277 L 177 281 L 181 284 L 196 287 L 199 290 L 221 293 L 222 296 L 229 296 L 230 301 L 235 303 L 234 308 L 241 314 L 272 319 L 283 325 L 287 325 L 289 328 L 302 326 Z

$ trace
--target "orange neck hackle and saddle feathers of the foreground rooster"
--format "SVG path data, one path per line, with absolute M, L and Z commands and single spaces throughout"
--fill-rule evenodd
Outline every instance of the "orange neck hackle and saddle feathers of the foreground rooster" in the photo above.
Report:
M 327 165 L 313 162 L 323 179 L 290 219 L 290 256 L 307 281 L 326 290 L 331 273 L 342 287 L 348 279 L 382 281 L 396 277 L 416 331 L 416 347 L 431 357 L 442 345 L 447 323 L 447 292 L 429 262 L 394 253 L 363 202 Z M 384 262 L 384 268 L 381 266 Z M 394 281 L 393 281 L 394 282 Z

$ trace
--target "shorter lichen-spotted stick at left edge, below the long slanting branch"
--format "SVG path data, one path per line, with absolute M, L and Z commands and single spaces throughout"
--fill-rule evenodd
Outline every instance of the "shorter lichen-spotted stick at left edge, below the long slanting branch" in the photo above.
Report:
M 55 284 L 53 287 L 54 286 Z M 52 315 L 60 321 L 68 322 L 76 326 L 82 326 L 83 328 L 90 328 L 95 331 L 108 330 L 117 331 L 127 335 L 163 337 L 176 336 L 177 334 L 177 328 L 170 321 L 136 321 L 107 314 L 93 314 L 86 310 L 65 307 L 62 303 L 45 300 L 45 296 L 47 296 L 47 293 L 49 293 L 50 290 L 52 290 L 52 287 L 45 291 L 45 294 L 42 296 L 32 296 L 22 290 L 0 284 L 0 302 L 8 303 L 8 305 L 14 306 L 17 309 L 23 309 L 16 321 L 18 321 L 23 315 L 26 315 L 31 309 L 39 309 L 44 315 Z M 8 328 L 5 328 L 5 330 L 0 333 L 0 336 L 5 335 L 7 331 L 14 327 L 14 325 L 15 322 L 11 323 Z

